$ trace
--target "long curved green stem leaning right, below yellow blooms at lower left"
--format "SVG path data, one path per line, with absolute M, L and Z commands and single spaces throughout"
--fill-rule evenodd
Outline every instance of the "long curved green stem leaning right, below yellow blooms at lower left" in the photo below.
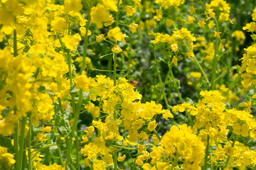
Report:
M 81 106 L 82 106 L 82 89 L 80 89 L 80 91 L 79 91 L 78 108 L 75 109 L 75 113 L 74 113 L 75 119 L 74 119 L 74 123 L 72 126 L 72 130 L 69 135 L 69 139 L 68 139 L 68 153 L 67 153 L 68 157 L 67 157 L 66 164 L 73 164 L 73 162 L 71 161 L 72 143 L 73 143 L 73 136 L 74 136 L 76 127 L 78 125 L 78 118 L 79 118 Z

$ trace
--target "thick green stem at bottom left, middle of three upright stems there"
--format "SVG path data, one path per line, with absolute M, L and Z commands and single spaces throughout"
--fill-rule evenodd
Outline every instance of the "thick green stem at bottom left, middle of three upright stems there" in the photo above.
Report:
M 21 138 L 18 143 L 18 170 L 22 169 L 22 162 L 23 162 L 23 147 L 24 147 L 24 135 L 25 135 L 25 127 L 26 127 L 26 118 L 21 118 Z

